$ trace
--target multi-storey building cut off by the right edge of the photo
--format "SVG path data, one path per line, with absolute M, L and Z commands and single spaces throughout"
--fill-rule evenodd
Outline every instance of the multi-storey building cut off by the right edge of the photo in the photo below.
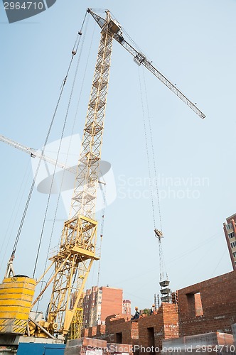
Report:
M 236 270 L 236 214 L 228 217 L 226 221 L 227 223 L 223 224 L 225 239 L 230 253 L 232 269 Z

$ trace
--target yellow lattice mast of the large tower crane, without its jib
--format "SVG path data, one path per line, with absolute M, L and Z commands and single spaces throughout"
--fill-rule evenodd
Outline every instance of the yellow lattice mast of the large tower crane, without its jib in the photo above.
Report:
M 95 253 L 97 241 L 95 202 L 107 103 L 112 39 L 114 33 L 119 30 L 119 25 L 112 20 L 109 11 L 107 11 L 106 19 L 103 20 L 90 102 L 82 137 L 82 149 L 70 219 L 64 224 L 58 253 L 51 258 L 55 265 L 55 277 L 53 278 L 53 292 L 48 309 L 48 323 L 58 325 L 57 332 L 64 335 L 68 333 L 75 310 L 78 308 L 78 302 L 92 267 L 92 262 L 99 259 Z M 73 309 L 70 310 L 70 299 L 73 293 L 76 293 L 76 298 L 73 302 Z M 34 304 L 38 297 L 33 302 Z

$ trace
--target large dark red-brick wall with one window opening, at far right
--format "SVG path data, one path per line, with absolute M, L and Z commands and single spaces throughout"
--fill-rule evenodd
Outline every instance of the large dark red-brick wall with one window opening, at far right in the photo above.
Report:
M 199 315 L 200 293 L 203 315 Z M 236 271 L 178 290 L 180 336 L 231 333 L 236 322 Z

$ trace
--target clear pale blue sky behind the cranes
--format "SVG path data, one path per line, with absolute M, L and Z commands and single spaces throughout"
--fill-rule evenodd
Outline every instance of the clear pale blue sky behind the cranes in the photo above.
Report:
M 112 11 L 156 67 L 207 116 L 201 120 L 156 77 L 139 68 L 121 45 L 114 43 L 102 159 L 112 164 L 117 198 L 105 211 L 100 285 L 123 288 L 124 297 L 132 300 L 132 307 L 149 307 L 154 293 L 159 292 L 159 251 L 151 201 L 146 198 L 149 173 L 140 100 L 141 92 L 143 95 L 145 92 L 144 82 L 142 89 L 139 87 L 139 75 L 145 77 L 161 181 L 166 271 L 172 290 L 176 290 L 232 270 L 222 223 L 236 212 L 236 3 L 58 0 L 38 16 L 11 25 L 1 4 L 2 135 L 32 148 L 42 146 L 88 6 Z M 78 96 L 88 60 L 74 131 L 80 135 L 99 38 L 99 28 L 90 18 L 76 89 Z M 50 142 L 60 138 L 67 105 L 64 99 Z M 65 136 L 72 133 L 73 109 L 75 102 Z M 3 277 L 33 175 L 28 155 L 4 143 L 0 151 Z M 16 273 L 33 272 L 46 199 L 39 192 L 33 194 L 16 253 Z M 55 202 L 53 196 L 38 277 L 48 250 Z M 159 227 L 157 201 L 154 202 Z M 66 216 L 60 203 L 58 219 L 62 221 L 55 224 L 53 246 L 58 242 Z M 100 214 L 97 218 L 100 219 Z M 96 283 L 97 266 L 90 273 L 87 287 Z

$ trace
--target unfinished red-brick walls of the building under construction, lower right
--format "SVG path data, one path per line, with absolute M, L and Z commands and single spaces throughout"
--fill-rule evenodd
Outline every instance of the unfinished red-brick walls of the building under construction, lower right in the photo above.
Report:
M 236 271 L 178 290 L 173 302 L 162 303 L 156 315 L 134 322 L 130 322 L 130 315 L 111 315 L 105 325 L 83 329 L 82 336 L 161 350 L 163 339 L 210 332 L 232 334 L 231 325 L 236 323 Z

